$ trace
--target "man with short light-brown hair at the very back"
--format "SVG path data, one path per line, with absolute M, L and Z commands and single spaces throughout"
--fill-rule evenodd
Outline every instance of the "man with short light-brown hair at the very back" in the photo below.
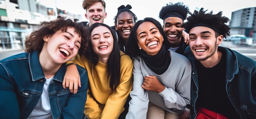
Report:
M 83 9 L 86 10 L 85 18 L 89 20 L 89 22 L 82 22 L 83 25 L 89 27 L 94 23 L 103 23 L 107 17 L 105 8 L 104 0 L 83 0 Z

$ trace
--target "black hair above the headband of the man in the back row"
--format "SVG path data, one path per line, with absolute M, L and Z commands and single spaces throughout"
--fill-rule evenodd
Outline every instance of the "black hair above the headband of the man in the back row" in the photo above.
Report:
M 162 7 L 159 12 L 159 18 L 164 20 L 164 17 L 171 12 L 178 13 L 180 16 L 182 16 L 183 20 L 186 20 L 189 8 L 186 5 L 183 5 L 183 2 L 177 2 L 175 4 L 170 2 L 169 4 L 166 4 L 166 6 Z

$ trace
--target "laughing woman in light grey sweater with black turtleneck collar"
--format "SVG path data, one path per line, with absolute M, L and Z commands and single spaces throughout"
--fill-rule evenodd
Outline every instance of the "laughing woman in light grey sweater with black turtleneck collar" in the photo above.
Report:
M 139 20 L 126 45 L 133 59 L 133 88 L 126 119 L 179 119 L 190 102 L 191 63 L 169 52 L 161 24 Z

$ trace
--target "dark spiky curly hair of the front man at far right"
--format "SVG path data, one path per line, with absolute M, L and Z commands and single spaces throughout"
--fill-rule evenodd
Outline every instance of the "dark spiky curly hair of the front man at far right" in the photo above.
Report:
M 223 35 L 226 38 L 226 35 L 229 36 L 229 26 L 225 23 L 229 22 L 229 18 L 222 16 L 222 11 L 217 14 L 213 14 L 213 11 L 206 13 L 207 10 L 204 11 L 204 8 L 201 8 L 200 11 L 194 11 L 194 13 L 189 12 L 191 16 L 187 18 L 187 22 L 185 22 L 182 27 L 185 28 L 185 31 L 189 33 L 189 31 L 195 27 L 196 24 L 206 24 L 211 26 L 210 28 L 215 31 L 215 37 L 217 38 L 219 35 Z M 216 32 L 218 31 L 218 32 Z

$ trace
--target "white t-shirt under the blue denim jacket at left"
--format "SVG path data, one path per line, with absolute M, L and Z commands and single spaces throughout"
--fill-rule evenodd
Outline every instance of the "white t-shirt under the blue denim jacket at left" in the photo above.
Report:
M 46 79 L 41 98 L 27 119 L 53 119 L 48 94 L 49 84 L 52 82 L 52 80 L 53 76 Z

